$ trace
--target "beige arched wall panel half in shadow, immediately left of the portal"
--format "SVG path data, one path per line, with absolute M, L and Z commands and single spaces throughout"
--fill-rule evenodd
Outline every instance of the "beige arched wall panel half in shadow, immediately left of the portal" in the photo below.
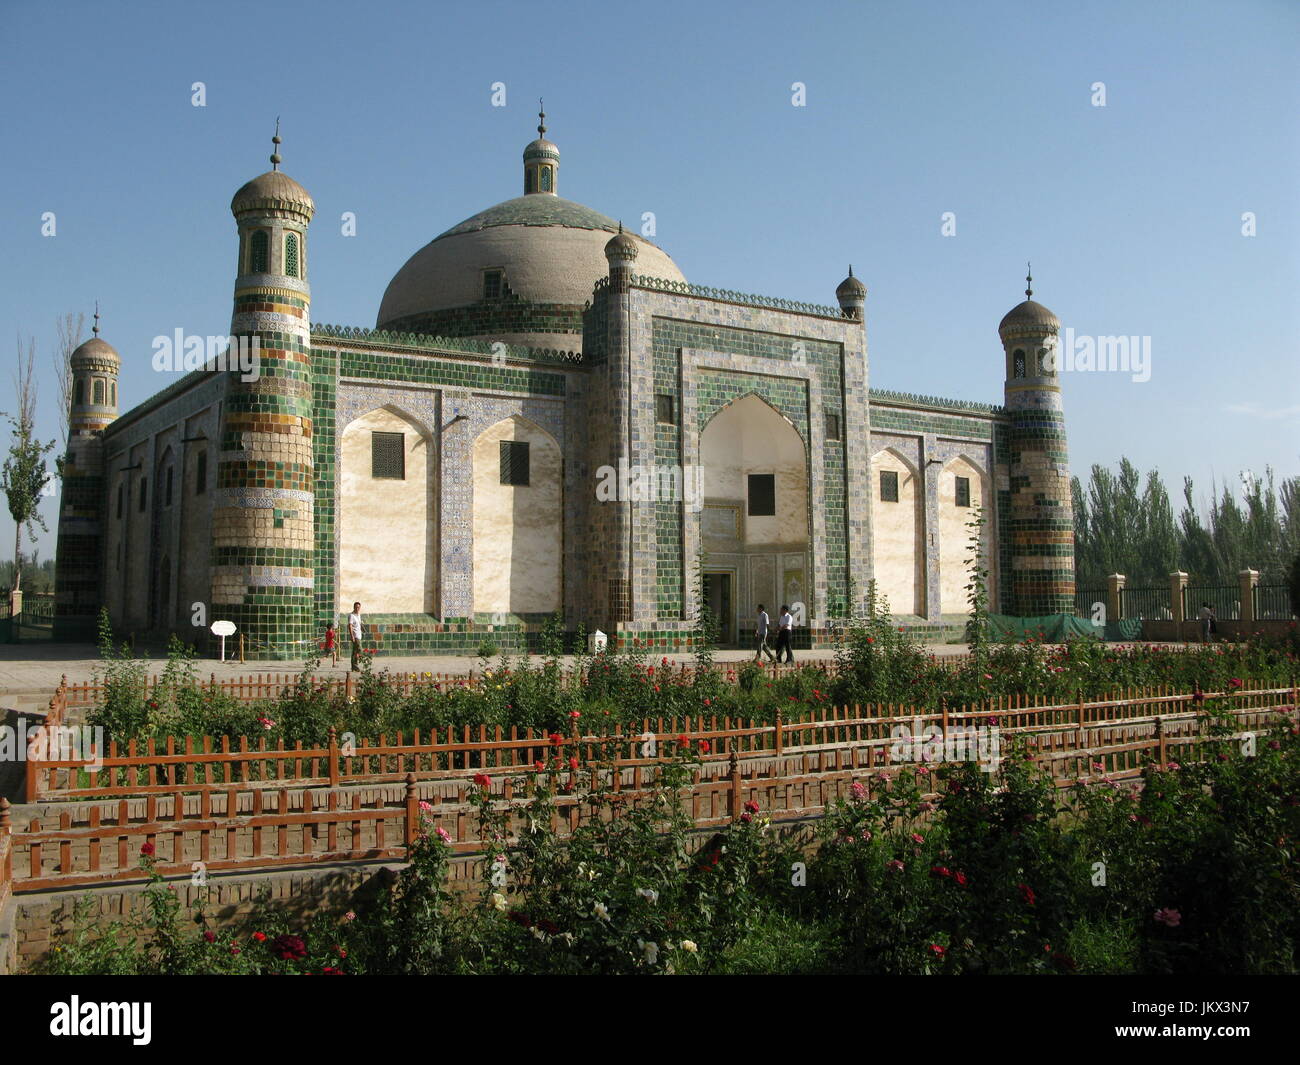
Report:
M 529 484 L 500 482 L 500 441 L 529 445 Z M 564 547 L 560 449 L 541 427 L 507 417 L 473 449 L 474 612 L 559 610 Z

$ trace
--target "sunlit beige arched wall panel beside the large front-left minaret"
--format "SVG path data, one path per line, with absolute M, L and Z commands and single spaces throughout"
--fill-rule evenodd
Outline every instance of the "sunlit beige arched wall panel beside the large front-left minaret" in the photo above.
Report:
M 406 479 L 370 476 L 370 433 L 402 433 Z M 370 411 L 343 430 L 338 492 L 341 611 L 436 612 L 437 507 L 433 441 L 415 419 Z

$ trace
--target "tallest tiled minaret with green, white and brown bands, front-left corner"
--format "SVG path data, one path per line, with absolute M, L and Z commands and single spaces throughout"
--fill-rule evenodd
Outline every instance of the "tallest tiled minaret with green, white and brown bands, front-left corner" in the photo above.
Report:
M 255 343 L 254 380 L 230 373 L 212 515 L 212 620 L 234 622 L 256 658 L 294 658 L 313 635 L 311 287 L 316 204 L 272 169 L 235 192 L 239 265 L 231 337 Z

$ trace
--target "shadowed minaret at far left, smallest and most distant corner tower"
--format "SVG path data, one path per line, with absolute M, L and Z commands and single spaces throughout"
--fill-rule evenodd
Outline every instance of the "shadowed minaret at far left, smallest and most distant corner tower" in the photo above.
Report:
M 73 390 L 58 502 L 55 553 L 55 637 L 87 640 L 95 633 L 104 564 L 104 428 L 117 417 L 117 373 L 122 360 L 94 335 L 72 355 Z

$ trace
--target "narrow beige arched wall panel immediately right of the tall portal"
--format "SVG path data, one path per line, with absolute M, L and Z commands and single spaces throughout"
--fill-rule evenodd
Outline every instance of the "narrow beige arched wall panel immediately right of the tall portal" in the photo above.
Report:
M 880 499 L 880 473 L 898 475 L 898 502 Z M 924 501 L 913 468 L 894 451 L 871 459 L 871 528 L 876 592 L 893 614 L 926 614 Z

